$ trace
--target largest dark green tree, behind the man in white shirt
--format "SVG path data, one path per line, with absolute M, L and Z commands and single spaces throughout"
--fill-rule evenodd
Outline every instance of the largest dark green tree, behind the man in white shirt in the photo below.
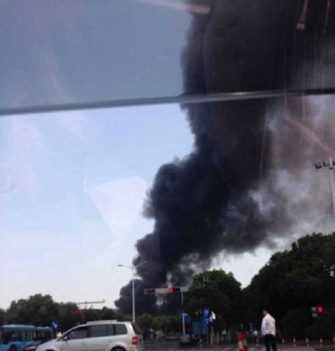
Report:
M 307 235 L 292 244 L 291 250 L 275 253 L 245 293 L 252 321 L 260 322 L 261 308 L 267 306 L 287 336 L 304 336 L 313 323 L 315 328 L 309 331 L 321 333 L 320 325 L 327 324 L 330 333 L 331 322 L 315 322 L 310 307 L 335 307 L 335 233 Z

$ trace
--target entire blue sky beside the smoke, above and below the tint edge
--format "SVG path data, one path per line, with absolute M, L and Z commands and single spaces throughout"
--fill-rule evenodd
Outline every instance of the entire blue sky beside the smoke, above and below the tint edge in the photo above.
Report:
M 208 8 L 170 4 L 5 1 L 0 110 L 183 93 L 189 11 Z M 113 307 L 131 277 L 117 265 L 153 228 L 142 206 L 156 171 L 192 147 L 179 105 L 1 117 L 0 307 L 34 293 Z M 213 267 L 246 285 L 270 254 Z

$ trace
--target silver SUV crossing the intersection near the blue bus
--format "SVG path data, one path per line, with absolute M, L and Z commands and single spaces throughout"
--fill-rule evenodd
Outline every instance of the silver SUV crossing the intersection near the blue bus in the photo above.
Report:
M 136 324 L 97 321 L 76 326 L 36 351 L 144 351 L 144 343 Z

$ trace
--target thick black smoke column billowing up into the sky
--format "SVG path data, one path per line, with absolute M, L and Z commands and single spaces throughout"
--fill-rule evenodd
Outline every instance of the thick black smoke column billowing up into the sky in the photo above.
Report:
M 301 32 L 296 25 L 303 0 L 199 3 L 211 11 L 194 15 L 182 52 L 186 95 L 305 87 L 299 67 L 309 60 L 310 48 L 317 48 L 321 35 L 315 8 L 308 12 L 309 22 Z M 311 9 L 315 1 L 308 4 Z M 278 206 L 268 209 L 266 216 L 252 196 L 270 169 L 272 140 L 264 138 L 264 123 L 271 102 L 183 108 L 194 134 L 194 151 L 186 159 L 164 164 L 156 174 L 145 208 L 155 219 L 154 230 L 137 241 L 134 260 L 135 265 L 146 262 L 138 269 L 145 287 L 187 284 L 221 251 L 242 253 L 271 246 L 275 235 L 292 225 L 280 193 L 268 192 Z M 278 213 L 280 229 L 273 226 Z M 116 301 L 121 310 L 130 303 L 127 294 L 124 287 Z

